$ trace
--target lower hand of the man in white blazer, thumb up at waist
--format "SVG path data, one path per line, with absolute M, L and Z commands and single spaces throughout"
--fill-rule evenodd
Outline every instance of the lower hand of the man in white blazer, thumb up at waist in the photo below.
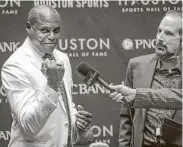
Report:
M 86 130 L 92 122 L 92 114 L 84 111 L 81 105 L 77 106 L 78 113 L 76 116 L 76 126 L 81 130 Z

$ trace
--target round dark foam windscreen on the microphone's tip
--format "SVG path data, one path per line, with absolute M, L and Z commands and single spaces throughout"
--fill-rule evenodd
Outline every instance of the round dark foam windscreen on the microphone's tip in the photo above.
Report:
M 80 74 L 82 74 L 83 76 L 86 76 L 88 72 L 92 69 L 92 67 L 86 62 L 82 62 L 79 64 L 77 69 Z

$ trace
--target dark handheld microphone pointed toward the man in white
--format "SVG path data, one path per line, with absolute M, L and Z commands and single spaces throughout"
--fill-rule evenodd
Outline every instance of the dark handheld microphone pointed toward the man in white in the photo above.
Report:
M 92 86 L 95 82 L 98 82 L 100 85 L 104 86 L 110 92 L 116 91 L 114 89 L 111 89 L 109 87 L 109 84 L 99 77 L 100 73 L 94 68 L 92 68 L 88 63 L 86 62 L 80 63 L 77 70 L 81 75 L 85 76 L 83 82 L 88 86 Z

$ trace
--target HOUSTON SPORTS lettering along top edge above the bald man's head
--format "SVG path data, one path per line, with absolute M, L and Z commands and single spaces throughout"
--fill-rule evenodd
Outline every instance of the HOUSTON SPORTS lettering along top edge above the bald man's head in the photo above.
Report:
M 108 0 L 34 0 L 34 6 L 49 5 L 52 8 L 107 8 Z

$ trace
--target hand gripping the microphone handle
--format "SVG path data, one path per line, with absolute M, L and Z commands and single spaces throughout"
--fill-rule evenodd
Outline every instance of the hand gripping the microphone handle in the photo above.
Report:
M 109 97 L 116 102 L 121 102 L 123 97 L 125 97 L 128 102 L 135 99 L 136 89 L 132 89 L 124 85 L 109 85 L 109 87 L 116 90 L 115 92 L 109 94 Z

